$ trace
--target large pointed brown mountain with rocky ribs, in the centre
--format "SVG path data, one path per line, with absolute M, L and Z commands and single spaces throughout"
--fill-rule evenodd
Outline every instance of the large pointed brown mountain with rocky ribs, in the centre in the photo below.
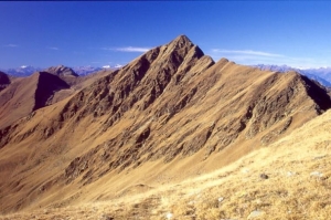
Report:
M 181 35 L 1 129 L 2 212 L 114 199 L 138 182 L 213 170 L 330 106 L 298 73 L 214 63 Z

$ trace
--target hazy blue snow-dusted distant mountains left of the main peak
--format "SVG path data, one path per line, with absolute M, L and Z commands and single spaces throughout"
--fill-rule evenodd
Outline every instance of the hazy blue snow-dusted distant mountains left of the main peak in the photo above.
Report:
M 107 70 L 107 69 L 118 69 L 117 66 L 111 67 L 110 65 L 103 66 L 103 67 L 94 67 L 94 66 L 76 66 L 72 67 L 72 70 L 78 74 L 78 75 L 88 75 L 90 73 L 95 73 L 100 70 Z M 0 71 L 12 75 L 12 76 L 18 76 L 18 77 L 23 77 L 23 76 L 29 76 L 32 75 L 35 72 L 43 71 L 44 69 L 41 67 L 34 67 L 31 65 L 22 65 L 21 67 L 17 69 L 1 69 Z

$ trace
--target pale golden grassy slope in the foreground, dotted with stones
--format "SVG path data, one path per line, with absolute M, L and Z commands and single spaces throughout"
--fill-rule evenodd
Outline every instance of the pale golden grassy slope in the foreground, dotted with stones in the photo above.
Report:
M 329 219 L 330 116 L 331 111 L 210 174 L 159 186 L 137 184 L 118 191 L 117 199 L 0 219 Z

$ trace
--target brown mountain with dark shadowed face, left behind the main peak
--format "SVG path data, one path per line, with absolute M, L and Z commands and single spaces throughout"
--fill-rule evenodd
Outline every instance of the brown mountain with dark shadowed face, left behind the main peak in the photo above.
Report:
M 66 66 L 53 66 L 26 77 L 11 77 L 0 73 L 0 128 L 28 116 L 32 112 L 57 103 L 89 85 L 111 71 L 78 76 Z M 4 90 L 6 88 L 6 90 Z

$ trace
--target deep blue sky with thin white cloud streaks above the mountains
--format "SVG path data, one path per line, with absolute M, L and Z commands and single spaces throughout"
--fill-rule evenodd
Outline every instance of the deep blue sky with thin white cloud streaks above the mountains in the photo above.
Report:
M 0 2 L 0 67 L 126 64 L 188 35 L 215 61 L 331 66 L 331 2 Z

